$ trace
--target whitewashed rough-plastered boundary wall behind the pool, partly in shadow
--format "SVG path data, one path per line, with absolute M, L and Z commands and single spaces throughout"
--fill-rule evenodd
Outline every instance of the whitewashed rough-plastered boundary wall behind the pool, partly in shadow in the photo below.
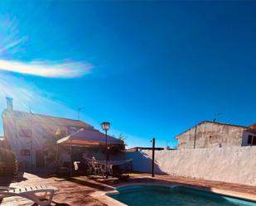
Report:
M 152 151 L 126 153 L 133 170 L 151 172 Z M 155 172 L 256 185 L 256 146 L 155 151 Z

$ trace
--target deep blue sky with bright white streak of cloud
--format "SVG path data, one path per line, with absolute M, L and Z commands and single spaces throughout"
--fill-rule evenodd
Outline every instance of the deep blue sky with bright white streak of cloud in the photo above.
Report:
M 83 121 L 111 122 L 128 147 L 176 146 L 215 113 L 250 125 L 255 19 L 253 1 L 3 1 L 0 110 L 6 95 L 34 113 L 76 118 L 84 107 Z

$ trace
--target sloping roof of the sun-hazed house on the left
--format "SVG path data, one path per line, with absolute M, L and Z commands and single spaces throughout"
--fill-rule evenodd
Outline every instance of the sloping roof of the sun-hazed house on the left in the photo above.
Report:
M 45 124 L 56 124 L 59 126 L 74 126 L 74 127 L 89 127 L 93 128 L 93 126 L 82 122 L 80 120 L 63 118 L 63 117 L 52 117 L 44 114 L 37 113 L 26 113 L 14 110 L 12 112 L 8 112 L 5 110 L 2 113 L 2 117 L 12 117 L 12 118 L 22 118 L 24 121 L 33 121 Z

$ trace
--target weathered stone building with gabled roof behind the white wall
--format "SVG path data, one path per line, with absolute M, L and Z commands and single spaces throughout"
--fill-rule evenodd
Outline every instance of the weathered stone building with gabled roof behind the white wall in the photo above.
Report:
M 178 149 L 256 146 L 256 124 L 249 127 L 204 121 L 176 136 Z

